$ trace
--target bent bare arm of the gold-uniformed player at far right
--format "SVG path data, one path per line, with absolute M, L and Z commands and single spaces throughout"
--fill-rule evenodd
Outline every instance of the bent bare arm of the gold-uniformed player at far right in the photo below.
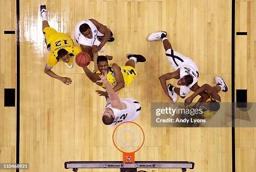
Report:
M 209 84 L 205 83 L 199 89 L 197 89 L 197 91 L 195 91 L 194 94 L 192 94 L 185 100 L 184 105 L 187 106 L 191 104 L 193 99 L 195 99 L 197 95 L 203 93 L 204 91 L 206 91 L 207 94 L 209 94 L 212 97 L 212 99 L 220 101 L 220 96 L 218 95 L 218 93 Z

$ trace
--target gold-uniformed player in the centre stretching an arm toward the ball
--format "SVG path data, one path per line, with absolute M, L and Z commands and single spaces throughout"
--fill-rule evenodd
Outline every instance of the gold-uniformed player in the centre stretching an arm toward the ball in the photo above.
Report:
M 100 76 L 103 77 L 102 73 L 107 71 L 107 79 L 110 82 L 113 90 L 115 92 L 122 91 L 127 86 L 131 84 L 133 79 L 138 76 L 138 73 L 135 69 L 135 63 L 145 62 L 146 58 L 139 54 L 127 54 L 126 56 L 129 60 L 125 63 L 125 66 L 118 66 L 116 63 L 108 63 L 106 56 L 98 56 L 97 58 L 97 68 L 96 73 L 92 73 L 87 67 L 83 67 L 84 73 L 88 78 L 97 83 L 103 89 L 106 89 L 104 83 L 99 83 Z M 108 96 L 106 91 L 97 91 L 100 96 Z

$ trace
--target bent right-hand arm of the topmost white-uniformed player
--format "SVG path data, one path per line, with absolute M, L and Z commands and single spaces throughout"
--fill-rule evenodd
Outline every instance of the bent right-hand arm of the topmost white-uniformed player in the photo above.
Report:
M 107 27 L 105 27 L 104 25 L 99 23 L 97 20 L 94 20 L 94 19 L 89 19 L 89 20 L 97 27 L 97 29 L 100 31 L 100 33 L 103 34 L 102 41 L 97 49 L 97 51 L 100 51 L 100 49 L 105 45 L 105 43 L 108 42 L 108 38 L 110 37 L 110 31 L 108 30 Z M 93 48 L 92 52 L 95 53 L 96 49 Z

